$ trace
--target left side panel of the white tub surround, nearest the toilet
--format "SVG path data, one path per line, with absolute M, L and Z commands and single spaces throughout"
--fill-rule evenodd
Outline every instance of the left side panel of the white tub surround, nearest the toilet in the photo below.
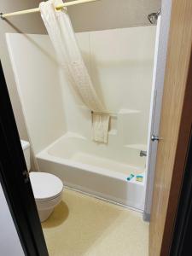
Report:
M 55 52 L 47 35 L 7 34 L 26 127 L 34 153 L 65 133 Z

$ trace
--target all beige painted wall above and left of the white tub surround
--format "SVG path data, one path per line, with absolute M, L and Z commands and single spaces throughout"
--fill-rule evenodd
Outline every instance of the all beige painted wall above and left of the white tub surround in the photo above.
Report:
M 38 6 L 38 0 L 1 0 L 3 13 L 20 9 L 31 9 Z M 147 15 L 160 8 L 160 0 L 102 0 L 97 3 L 80 4 L 70 7 L 69 13 L 76 32 L 96 31 L 116 27 L 148 25 Z M 99 17 L 99 19 L 98 19 Z M 115 18 L 114 18 L 115 17 Z M 16 91 L 13 71 L 10 67 L 8 50 L 5 43 L 5 32 L 46 33 L 39 14 L 11 17 L 0 20 L 0 58 L 3 64 L 9 94 L 14 108 L 20 137 L 28 139 L 26 125 L 20 108 L 20 100 Z

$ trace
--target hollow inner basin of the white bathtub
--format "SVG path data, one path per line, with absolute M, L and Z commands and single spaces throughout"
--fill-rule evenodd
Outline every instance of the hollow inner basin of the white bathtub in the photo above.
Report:
M 45 151 L 61 159 L 96 166 L 113 172 L 124 173 L 125 175 L 131 172 L 135 174 L 144 172 L 143 166 L 133 167 L 130 164 L 130 160 L 127 158 L 127 155 L 130 153 L 129 148 L 122 150 L 121 145 L 116 144 L 108 150 L 108 145 L 106 144 L 95 144 L 85 137 L 79 137 L 79 135 L 70 132 L 57 140 L 49 148 L 46 148 Z

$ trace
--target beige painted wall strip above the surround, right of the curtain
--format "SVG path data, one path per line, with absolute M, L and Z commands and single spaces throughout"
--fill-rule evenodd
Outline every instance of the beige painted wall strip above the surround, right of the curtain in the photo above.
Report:
M 68 12 L 76 32 L 149 26 L 147 16 L 158 11 L 160 3 L 160 0 L 98 0 L 71 6 Z

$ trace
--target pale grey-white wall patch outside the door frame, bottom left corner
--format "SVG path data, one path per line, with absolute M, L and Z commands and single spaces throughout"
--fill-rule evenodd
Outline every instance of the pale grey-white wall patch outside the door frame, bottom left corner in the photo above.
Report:
M 0 183 L 0 255 L 22 256 L 23 249 Z

